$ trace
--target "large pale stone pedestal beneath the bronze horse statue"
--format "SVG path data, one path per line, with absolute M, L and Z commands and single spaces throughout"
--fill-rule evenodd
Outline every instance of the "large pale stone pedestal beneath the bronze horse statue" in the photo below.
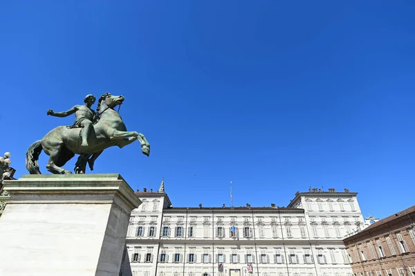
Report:
M 26 175 L 4 185 L 0 275 L 118 276 L 141 203 L 119 174 Z

